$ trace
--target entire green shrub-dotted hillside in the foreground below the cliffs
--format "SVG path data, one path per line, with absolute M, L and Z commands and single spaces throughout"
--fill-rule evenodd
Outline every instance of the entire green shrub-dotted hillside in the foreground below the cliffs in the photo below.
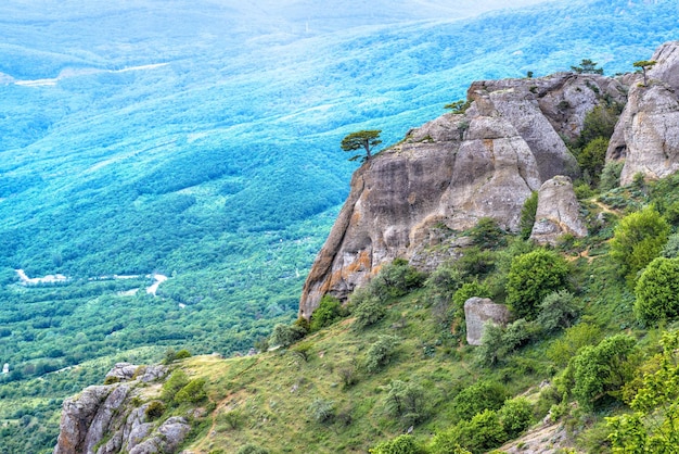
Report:
M 587 191 L 580 187 L 579 192 Z M 659 209 L 675 231 L 676 212 L 668 206 L 679 197 L 679 178 L 585 196 L 591 235 L 564 238 L 547 252 L 567 269 L 555 293 L 560 303 L 542 304 L 533 318 L 513 321 L 495 346 L 465 343 L 460 303 L 471 295 L 510 302 L 517 257 L 545 250 L 486 225 L 451 232 L 475 241 L 461 261 L 441 265 L 426 280 L 402 262 L 387 266 L 367 290 L 353 295 L 349 315 L 336 312 L 334 319 L 324 318 L 329 326 L 290 345 L 249 357 L 197 356 L 176 363 L 175 370 L 187 374 L 184 383 L 205 380 L 206 398 L 188 404 L 166 395 L 167 409 L 158 420 L 196 405 L 206 409 L 193 421 L 184 446 L 197 453 L 255 452 L 245 446 L 262 453 L 450 453 L 456 443 L 482 453 L 514 439 L 520 451 L 541 445 L 563 453 L 573 452 L 568 447 L 630 452 L 631 444 L 628 451 L 612 451 L 622 444 L 611 433 L 630 438 L 606 424 L 606 417 L 627 415 L 630 406 L 639 411 L 633 398 L 643 389 L 650 392 L 644 387 L 650 375 L 657 375 L 662 335 L 676 333 L 679 326 L 672 317 L 661 323 L 639 318 L 637 297 L 611 253 L 612 237 L 619 239 L 620 219 L 649 206 Z M 677 235 L 669 238 L 664 254 L 675 256 L 670 244 Z M 382 278 L 385 274 L 389 277 Z M 679 274 L 667 278 L 679 282 Z M 367 294 L 379 301 L 382 313 L 366 307 Z M 559 304 L 568 310 L 555 316 Z M 289 339 L 283 331 L 277 328 L 271 342 Z M 677 352 L 666 346 L 670 364 L 659 370 L 667 370 L 663 377 L 671 404 L 679 387 L 669 377 L 679 369 Z M 603 354 L 605 349 L 615 349 L 613 356 Z M 582 374 L 582 367 L 598 365 L 605 369 L 594 377 Z M 603 383 L 601 390 L 587 391 L 589 380 Z M 653 402 L 651 408 L 663 401 Z M 655 429 L 646 429 L 649 433 L 671 437 L 674 429 L 657 424 L 664 411 L 653 415 L 649 421 Z M 402 440 L 406 432 L 411 433 L 409 443 Z M 399 436 L 411 447 L 380 444 Z M 658 446 L 653 452 L 671 452 Z

